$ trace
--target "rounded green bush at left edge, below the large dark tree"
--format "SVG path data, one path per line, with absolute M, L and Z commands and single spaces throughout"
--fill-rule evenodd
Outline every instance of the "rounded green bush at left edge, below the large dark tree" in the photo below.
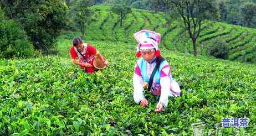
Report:
M 0 58 L 32 57 L 33 45 L 14 20 L 4 17 L 0 9 Z

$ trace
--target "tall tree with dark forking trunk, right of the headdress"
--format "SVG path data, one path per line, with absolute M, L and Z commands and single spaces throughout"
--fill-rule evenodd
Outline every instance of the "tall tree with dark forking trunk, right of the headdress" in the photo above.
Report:
M 218 19 L 219 11 L 216 0 L 162 0 L 173 17 L 180 15 L 183 27 L 187 30 L 193 43 L 193 54 L 197 55 L 196 40 L 201 33 L 205 19 Z

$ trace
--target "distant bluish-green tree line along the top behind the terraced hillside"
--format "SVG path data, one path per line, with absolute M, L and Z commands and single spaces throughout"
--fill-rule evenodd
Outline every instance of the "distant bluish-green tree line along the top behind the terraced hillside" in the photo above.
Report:
M 131 8 L 149 9 L 151 11 L 168 12 L 165 3 L 170 0 L 102 0 L 104 4 L 126 4 Z M 256 28 L 256 0 L 218 0 L 218 8 L 221 18 L 217 21 L 244 27 Z M 213 19 L 216 20 L 216 19 Z

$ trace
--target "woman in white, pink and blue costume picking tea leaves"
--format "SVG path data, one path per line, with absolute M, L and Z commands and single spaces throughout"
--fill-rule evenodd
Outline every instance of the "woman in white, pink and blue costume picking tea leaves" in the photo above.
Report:
M 143 93 L 144 88 L 147 88 L 153 95 L 160 96 L 155 111 L 162 112 L 168 105 L 168 97 L 180 96 L 181 90 L 177 84 L 174 84 L 176 86 L 171 86 L 171 81 L 173 80 L 170 66 L 160 55 L 160 50 L 158 50 L 158 44 L 161 38 L 160 34 L 149 30 L 144 31 L 138 33 L 145 34 L 146 36 L 137 36 L 134 34 L 135 39 L 139 43 L 136 56 L 142 56 L 135 63 L 133 77 L 134 101 L 140 104 L 140 106 L 147 107 L 149 102 Z M 151 75 L 154 76 L 151 77 Z M 152 80 L 150 81 L 150 79 Z

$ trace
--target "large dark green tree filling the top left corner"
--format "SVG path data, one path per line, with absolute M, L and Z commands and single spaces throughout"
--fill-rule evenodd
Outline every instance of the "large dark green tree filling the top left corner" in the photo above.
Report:
M 47 53 L 65 26 L 66 3 L 63 1 L 1 1 L 6 15 L 23 27 L 35 49 Z

